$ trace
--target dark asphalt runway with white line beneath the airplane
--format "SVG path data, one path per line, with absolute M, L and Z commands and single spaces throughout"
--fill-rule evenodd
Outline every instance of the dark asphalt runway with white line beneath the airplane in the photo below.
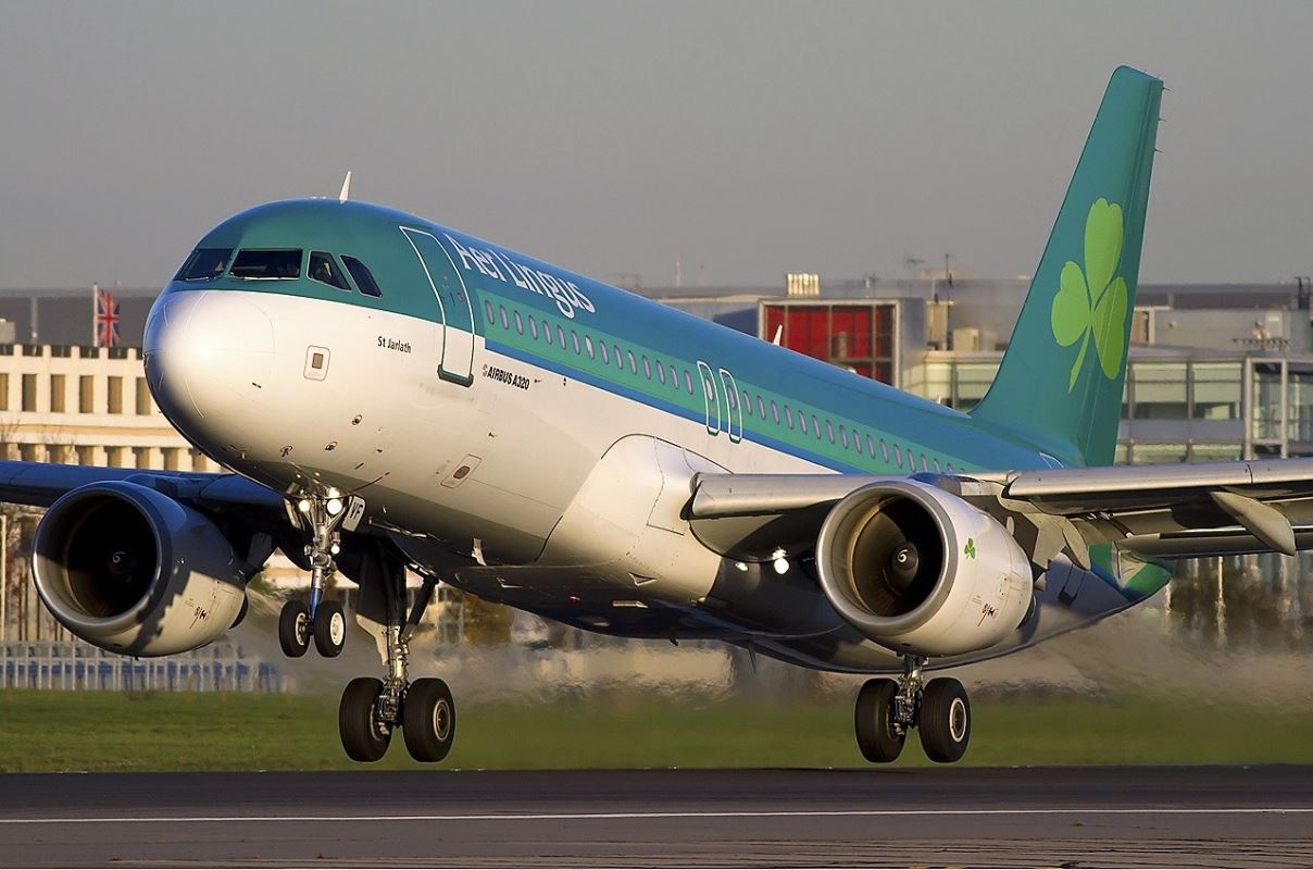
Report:
M 0 777 L 0 866 L 1313 863 L 1313 767 Z

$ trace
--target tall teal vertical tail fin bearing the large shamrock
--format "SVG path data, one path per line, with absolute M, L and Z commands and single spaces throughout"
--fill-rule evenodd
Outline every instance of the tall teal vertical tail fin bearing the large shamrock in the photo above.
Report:
M 998 376 L 972 417 L 1067 464 L 1116 452 L 1162 81 L 1117 67 Z

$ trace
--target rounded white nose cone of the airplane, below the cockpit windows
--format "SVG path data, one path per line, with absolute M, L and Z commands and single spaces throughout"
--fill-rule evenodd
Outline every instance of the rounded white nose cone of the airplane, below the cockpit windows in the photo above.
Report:
M 273 367 L 273 323 L 246 294 L 164 293 L 147 317 L 143 351 L 155 403 L 201 443 L 225 419 L 256 413 Z

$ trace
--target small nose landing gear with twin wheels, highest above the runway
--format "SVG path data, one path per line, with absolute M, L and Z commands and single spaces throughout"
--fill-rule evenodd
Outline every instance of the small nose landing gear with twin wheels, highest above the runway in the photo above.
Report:
M 332 658 L 347 644 L 347 614 L 336 601 L 324 601 L 324 584 L 337 570 L 334 556 L 341 538 L 337 527 L 347 515 L 341 498 L 314 495 L 302 498 L 297 509 L 310 522 L 310 601 L 289 601 L 278 614 L 278 644 L 290 658 L 299 658 L 314 640 L 320 656 Z

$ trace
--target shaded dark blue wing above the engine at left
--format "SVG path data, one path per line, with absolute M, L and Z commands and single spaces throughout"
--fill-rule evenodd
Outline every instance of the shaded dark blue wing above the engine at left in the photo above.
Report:
M 282 495 L 232 473 L 158 472 L 135 468 L 0 461 L 0 502 L 50 507 L 89 484 L 126 481 L 196 507 L 285 513 Z

